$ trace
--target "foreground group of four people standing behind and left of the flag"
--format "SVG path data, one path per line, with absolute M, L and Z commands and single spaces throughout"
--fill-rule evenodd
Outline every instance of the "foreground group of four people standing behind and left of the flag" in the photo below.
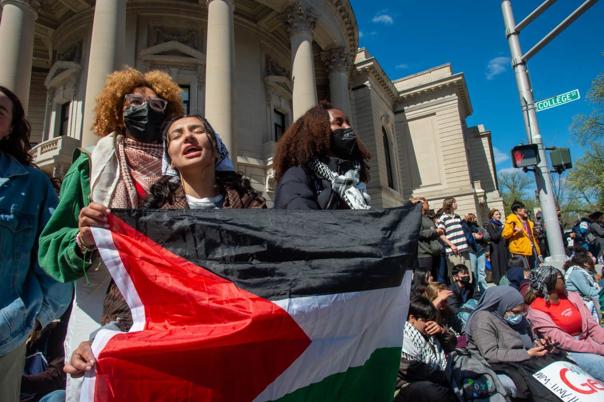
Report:
M 77 149 L 59 185 L 37 169 L 24 108 L 0 87 L 0 400 L 79 400 L 95 334 L 132 326 L 91 231 L 111 209 L 266 208 L 210 122 L 184 115 L 180 92 L 164 72 L 109 75 L 94 109 L 100 138 Z M 348 116 L 320 102 L 278 143 L 275 208 L 368 209 L 370 157 Z

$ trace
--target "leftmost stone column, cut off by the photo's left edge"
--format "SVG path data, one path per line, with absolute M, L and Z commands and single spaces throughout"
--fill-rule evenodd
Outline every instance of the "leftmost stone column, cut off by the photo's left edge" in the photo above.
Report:
M 30 101 L 34 29 L 40 11 L 36 0 L 2 0 L 0 21 L 0 85 L 21 99 L 25 114 Z

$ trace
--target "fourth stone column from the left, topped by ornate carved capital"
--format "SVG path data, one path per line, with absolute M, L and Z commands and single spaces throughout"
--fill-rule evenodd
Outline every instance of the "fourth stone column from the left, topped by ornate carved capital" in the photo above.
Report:
M 292 44 L 292 84 L 294 86 L 294 121 L 316 105 L 315 65 L 312 57 L 312 37 L 319 19 L 312 8 L 298 1 L 288 9 L 285 30 Z

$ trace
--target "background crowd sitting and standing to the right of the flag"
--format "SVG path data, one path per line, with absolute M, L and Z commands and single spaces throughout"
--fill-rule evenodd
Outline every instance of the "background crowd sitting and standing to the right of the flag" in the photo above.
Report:
M 455 214 L 454 198 L 434 216 L 419 201 L 422 231 L 396 401 L 456 400 L 463 353 L 493 372 L 498 391 L 511 400 L 556 401 L 532 377 L 556 361 L 575 363 L 604 383 L 602 213 L 577 222 L 565 242 L 570 256 L 556 269 L 544 264 L 541 222 L 530 221 L 520 201 L 503 222 L 491 210 L 484 228 L 473 213 Z

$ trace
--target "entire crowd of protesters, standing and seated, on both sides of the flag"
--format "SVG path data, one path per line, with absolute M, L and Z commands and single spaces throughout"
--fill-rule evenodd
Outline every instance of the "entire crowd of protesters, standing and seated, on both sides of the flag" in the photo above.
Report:
M 111 209 L 266 208 L 210 122 L 184 115 L 169 75 L 116 71 L 96 102 L 97 145 L 77 149 L 59 183 L 34 164 L 24 108 L 0 87 L 2 401 L 79 400 L 96 363 L 95 334 L 132 326 L 92 236 L 92 227 L 108 227 Z M 275 208 L 370 208 L 370 158 L 348 116 L 320 102 L 277 144 Z M 542 265 L 539 229 L 522 203 L 504 222 L 492 210 L 480 227 L 474 214 L 455 213 L 454 198 L 435 216 L 426 199 L 411 202 L 422 203 L 422 222 L 396 400 L 454 400 L 448 361 L 463 347 L 514 398 L 539 395 L 519 381 L 536 357 L 571 359 L 604 380 L 594 272 L 602 213 L 577 226 L 573 255 L 558 271 Z M 489 264 L 500 286 L 489 287 Z

